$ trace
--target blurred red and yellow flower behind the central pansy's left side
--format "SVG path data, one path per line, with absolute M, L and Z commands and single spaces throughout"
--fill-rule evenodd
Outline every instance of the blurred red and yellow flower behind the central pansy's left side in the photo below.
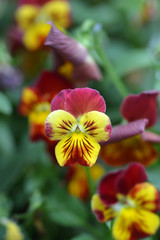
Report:
M 66 87 L 71 85 L 63 77 L 44 71 L 33 87 L 23 90 L 19 111 L 28 116 L 31 140 L 46 139 L 44 124 L 50 113 L 50 103 L 57 93 Z

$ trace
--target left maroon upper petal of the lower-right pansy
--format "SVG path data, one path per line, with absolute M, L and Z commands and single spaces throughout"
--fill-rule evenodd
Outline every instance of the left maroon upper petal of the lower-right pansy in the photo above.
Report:
M 117 179 L 123 172 L 124 170 L 111 172 L 101 180 L 98 193 L 105 204 L 110 205 L 117 202 Z

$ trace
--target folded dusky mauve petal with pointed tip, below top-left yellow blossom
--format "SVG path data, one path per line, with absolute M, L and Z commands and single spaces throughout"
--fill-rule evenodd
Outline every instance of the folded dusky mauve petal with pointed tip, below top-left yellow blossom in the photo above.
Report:
M 45 45 L 52 47 L 62 59 L 75 65 L 82 64 L 88 54 L 86 48 L 57 29 L 53 23 Z

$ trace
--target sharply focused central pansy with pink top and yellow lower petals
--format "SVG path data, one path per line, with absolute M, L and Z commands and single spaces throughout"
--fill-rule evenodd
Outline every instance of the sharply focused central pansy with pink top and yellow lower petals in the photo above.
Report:
M 92 166 L 100 145 L 110 138 L 111 123 L 105 101 L 90 88 L 66 89 L 51 103 L 51 113 L 45 122 L 46 136 L 59 140 L 55 155 L 60 166 Z

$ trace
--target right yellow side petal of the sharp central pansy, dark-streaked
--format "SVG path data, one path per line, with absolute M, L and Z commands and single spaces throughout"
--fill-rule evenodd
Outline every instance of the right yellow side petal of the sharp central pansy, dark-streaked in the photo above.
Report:
M 79 121 L 79 128 L 92 136 L 97 142 L 105 142 L 111 135 L 111 122 L 109 117 L 98 111 L 83 114 Z

